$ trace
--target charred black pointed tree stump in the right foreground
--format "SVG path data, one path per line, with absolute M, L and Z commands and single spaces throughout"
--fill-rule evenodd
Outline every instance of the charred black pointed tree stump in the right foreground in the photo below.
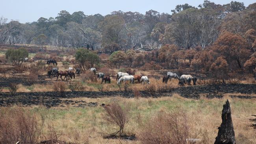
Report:
M 218 135 L 215 138 L 214 144 L 236 144 L 235 132 L 231 118 L 231 109 L 228 100 L 223 105 L 221 114 L 222 123 L 218 127 Z

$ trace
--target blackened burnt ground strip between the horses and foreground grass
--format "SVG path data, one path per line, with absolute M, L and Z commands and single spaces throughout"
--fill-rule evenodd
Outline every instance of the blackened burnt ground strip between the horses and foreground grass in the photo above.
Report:
M 161 92 L 140 91 L 142 97 L 161 97 L 172 96 L 174 93 L 180 94 L 185 98 L 199 99 L 200 94 L 206 95 L 206 98 L 222 98 L 225 93 L 241 93 L 245 96 L 231 96 L 237 98 L 256 98 L 255 84 L 226 84 L 226 85 L 197 85 L 169 89 Z M 247 96 L 246 94 L 255 94 Z M 73 105 L 76 107 L 97 106 L 98 103 L 87 103 L 85 101 L 63 100 L 62 98 L 102 98 L 122 96 L 124 98 L 133 98 L 134 92 L 111 91 L 111 92 L 18 92 L 11 96 L 9 92 L 0 93 L 0 106 L 17 105 L 44 105 L 46 107 Z

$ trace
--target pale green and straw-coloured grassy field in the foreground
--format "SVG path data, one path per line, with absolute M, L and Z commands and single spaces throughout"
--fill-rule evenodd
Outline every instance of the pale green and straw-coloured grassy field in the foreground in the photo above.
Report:
M 189 124 L 192 130 L 201 129 L 207 131 L 209 144 L 212 144 L 217 136 L 217 127 L 221 124 L 221 111 L 226 99 L 229 99 L 232 111 L 232 119 L 236 134 L 237 144 L 255 144 L 255 129 L 250 127 L 252 122 L 249 120 L 252 112 L 256 111 L 256 100 L 243 100 L 237 98 L 229 98 L 225 96 L 223 99 L 205 99 L 192 100 L 180 97 L 174 94 L 173 97 L 163 98 L 73 98 L 68 100 L 84 100 L 86 102 L 97 102 L 97 107 L 53 107 L 46 109 L 41 106 L 22 107 L 29 109 L 38 117 L 43 115 L 46 125 L 54 126 L 58 133 L 62 133 L 60 140 L 73 142 L 77 144 L 102 144 L 102 143 L 120 143 L 119 140 L 104 139 L 103 136 L 115 131 L 115 126 L 107 123 L 102 115 L 104 108 L 100 104 L 119 103 L 123 108 L 130 111 L 130 121 L 125 127 L 126 135 L 139 135 L 141 128 L 160 111 L 176 111 L 183 109 L 188 116 Z M 19 108 L 13 106 L 4 109 Z M 255 114 L 255 113 L 254 113 Z M 46 130 L 45 130 L 46 132 Z M 199 135 L 197 138 L 201 138 Z M 136 141 L 121 140 L 124 144 L 140 143 Z

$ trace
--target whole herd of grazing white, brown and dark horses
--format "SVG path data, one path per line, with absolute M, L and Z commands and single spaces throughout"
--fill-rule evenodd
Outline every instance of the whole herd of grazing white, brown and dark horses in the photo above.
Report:
M 50 65 L 50 63 L 56 64 L 57 62 L 53 59 L 49 59 L 47 61 L 47 65 Z M 97 75 L 97 79 L 102 79 L 101 83 L 103 83 L 103 81 L 105 81 L 105 83 L 110 83 L 111 79 L 110 76 L 106 76 L 103 72 L 98 72 L 98 74 L 96 74 L 96 68 L 91 68 L 90 72 L 93 72 L 94 75 Z M 61 70 L 58 71 L 58 68 L 52 68 L 52 70 L 49 70 L 47 72 L 47 76 L 48 78 L 55 77 L 57 76 L 57 80 L 60 76 L 60 78 L 62 79 L 62 76 L 65 76 L 64 79 L 62 80 L 67 80 L 67 79 L 72 79 L 75 78 L 75 76 L 80 76 L 81 73 L 81 69 L 80 68 L 76 68 L 76 72 L 73 71 L 72 67 L 69 67 L 68 70 Z M 191 75 L 182 75 L 182 76 L 178 76 L 176 73 L 173 72 L 167 72 L 167 74 L 165 76 L 163 76 L 163 83 L 167 83 L 168 79 L 178 79 L 178 86 L 179 87 L 184 87 L 184 84 L 187 85 L 191 85 L 191 81 L 193 81 L 193 85 L 196 85 L 197 82 L 197 77 L 194 76 L 192 77 Z M 143 83 L 143 84 L 150 84 L 150 81 L 148 79 L 147 76 L 141 76 L 141 75 L 135 75 L 135 70 L 128 70 L 126 72 L 118 72 L 117 73 L 117 84 L 120 85 L 122 81 L 126 82 L 126 81 L 130 81 L 130 83 L 133 83 L 137 80 L 138 83 Z

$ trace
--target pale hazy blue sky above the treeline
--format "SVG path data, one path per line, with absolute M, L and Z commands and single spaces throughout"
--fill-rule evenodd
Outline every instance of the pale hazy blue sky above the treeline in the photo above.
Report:
M 197 7 L 204 0 L 1 0 L 0 17 L 20 22 L 37 21 L 40 17 L 56 17 L 61 10 L 70 14 L 83 11 L 85 15 L 110 14 L 112 11 L 132 11 L 145 14 L 153 9 L 160 13 L 171 13 L 178 4 L 189 4 Z M 215 4 L 227 4 L 231 0 L 210 0 Z M 245 6 L 256 0 L 237 0 Z

